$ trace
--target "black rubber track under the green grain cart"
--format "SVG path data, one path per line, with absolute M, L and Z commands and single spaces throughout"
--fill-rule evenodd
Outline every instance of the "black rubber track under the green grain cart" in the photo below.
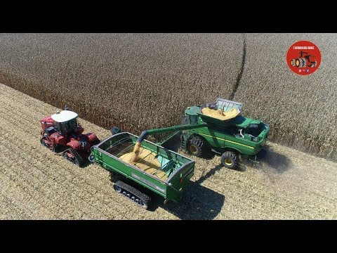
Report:
M 114 183 L 114 190 L 117 193 L 123 195 L 124 197 L 128 197 L 129 200 L 135 202 L 136 204 L 140 205 L 147 209 L 148 203 L 150 202 L 151 198 L 144 193 L 141 193 L 136 188 L 129 186 L 127 183 L 123 181 L 117 181 Z

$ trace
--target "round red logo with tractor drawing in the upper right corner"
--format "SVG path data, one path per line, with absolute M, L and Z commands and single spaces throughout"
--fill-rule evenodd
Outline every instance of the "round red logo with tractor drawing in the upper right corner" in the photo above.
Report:
M 312 74 L 321 64 L 321 52 L 310 41 L 297 41 L 288 49 L 286 63 L 296 74 Z

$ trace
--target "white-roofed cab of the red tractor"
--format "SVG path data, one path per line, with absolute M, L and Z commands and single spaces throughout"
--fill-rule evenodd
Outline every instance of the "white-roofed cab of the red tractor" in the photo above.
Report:
M 51 115 L 53 127 L 63 136 L 77 133 L 77 117 L 77 113 L 70 110 L 62 110 Z

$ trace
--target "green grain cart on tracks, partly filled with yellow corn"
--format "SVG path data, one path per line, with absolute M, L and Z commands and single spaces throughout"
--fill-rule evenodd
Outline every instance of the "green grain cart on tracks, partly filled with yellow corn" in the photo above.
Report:
M 133 162 L 137 141 L 137 136 L 119 132 L 94 145 L 89 160 L 126 177 L 128 183 L 117 181 L 114 190 L 142 207 L 147 208 L 150 197 L 139 186 L 161 195 L 165 201 L 178 202 L 193 176 L 194 160 L 144 140 L 140 157 Z M 131 186 L 132 182 L 136 183 L 136 187 Z

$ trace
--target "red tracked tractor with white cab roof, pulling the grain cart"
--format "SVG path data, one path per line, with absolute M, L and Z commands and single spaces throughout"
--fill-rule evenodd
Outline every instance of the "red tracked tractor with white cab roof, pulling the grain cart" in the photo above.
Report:
M 94 133 L 82 134 L 84 129 L 77 123 L 77 117 L 66 106 L 65 110 L 41 119 L 41 144 L 55 153 L 63 151 L 65 159 L 81 167 L 90 155 L 90 148 L 100 140 Z

